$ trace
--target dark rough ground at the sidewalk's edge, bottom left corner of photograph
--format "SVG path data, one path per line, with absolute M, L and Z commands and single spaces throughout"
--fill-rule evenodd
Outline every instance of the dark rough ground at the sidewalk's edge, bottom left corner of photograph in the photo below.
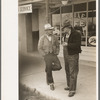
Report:
M 19 87 L 19 100 L 56 100 L 55 98 L 43 96 L 35 88 L 31 89 L 23 84 L 19 84 Z

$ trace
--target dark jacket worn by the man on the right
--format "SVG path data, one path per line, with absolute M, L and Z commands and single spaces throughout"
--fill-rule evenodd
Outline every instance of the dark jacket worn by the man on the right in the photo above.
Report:
M 71 34 L 68 39 L 68 54 L 74 55 L 81 53 L 81 34 L 71 29 Z

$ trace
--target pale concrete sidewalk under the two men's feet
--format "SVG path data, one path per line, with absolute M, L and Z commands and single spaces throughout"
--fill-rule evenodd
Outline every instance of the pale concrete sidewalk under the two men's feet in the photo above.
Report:
M 61 71 L 53 72 L 55 90 L 51 91 L 46 84 L 45 63 L 42 58 L 35 56 L 24 56 L 20 63 L 20 82 L 34 89 L 42 95 L 56 100 L 96 100 L 96 67 L 86 66 L 82 61 L 79 64 L 77 91 L 74 97 L 68 97 L 66 87 L 66 75 L 63 58 L 59 58 L 62 65 Z

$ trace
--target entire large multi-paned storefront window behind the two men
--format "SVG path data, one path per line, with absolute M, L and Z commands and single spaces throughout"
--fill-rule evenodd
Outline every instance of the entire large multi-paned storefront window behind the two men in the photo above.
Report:
M 96 46 L 96 1 L 64 6 L 61 8 L 61 15 L 60 9 L 53 13 L 52 25 L 56 27 L 55 33 L 59 30 L 59 37 L 62 36 L 60 24 L 63 26 L 65 20 L 69 20 L 72 26 L 80 31 L 82 46 Z

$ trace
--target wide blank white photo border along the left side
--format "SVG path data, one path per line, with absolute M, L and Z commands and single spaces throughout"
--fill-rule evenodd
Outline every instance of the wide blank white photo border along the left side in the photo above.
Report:
M 18 1 L 1 8 L 1 100 L 18 100 Z

